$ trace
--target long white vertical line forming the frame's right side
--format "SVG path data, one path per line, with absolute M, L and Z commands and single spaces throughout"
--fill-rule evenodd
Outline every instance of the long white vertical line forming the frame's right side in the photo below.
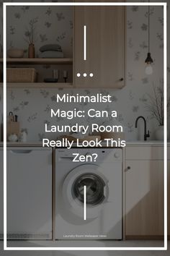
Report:
M 167 30 L 164 3 L 164 247 L 167 249 Z

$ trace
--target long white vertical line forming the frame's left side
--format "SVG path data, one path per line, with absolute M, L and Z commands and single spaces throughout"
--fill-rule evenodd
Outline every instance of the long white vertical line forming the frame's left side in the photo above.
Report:
M 3 97 L 4 97 L 4 111 L 3 111 L 3 121 L 4 121 L 4 250 L 7 247 L 7 234 L 6 234 L 6 4 L 3 3 Z

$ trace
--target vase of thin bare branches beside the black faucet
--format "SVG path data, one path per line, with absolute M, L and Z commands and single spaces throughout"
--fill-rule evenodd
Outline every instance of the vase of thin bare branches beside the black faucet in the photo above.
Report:
M 153 85 L 153 96 L 148 94 L 149 101 L 146 109 L 151 113 L 151 118 L 158 121 L 158 128 L 155 131 L 156 140 L 164 140 L 164 82 L 155 88 Z M 170 97 L 167 98 L 167 112 L 170 109 Z

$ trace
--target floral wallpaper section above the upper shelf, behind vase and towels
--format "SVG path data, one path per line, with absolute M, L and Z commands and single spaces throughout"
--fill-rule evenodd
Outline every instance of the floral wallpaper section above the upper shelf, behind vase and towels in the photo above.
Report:
M 46 43 L 61 45 L 65 57 L 72 57 L 72 7 L 7 7 L 7 49 L 24 48 L 27 56 L 29 24 L 35 26 L 35 55 Z M 22 22 L 22 26 L 21 26 Z

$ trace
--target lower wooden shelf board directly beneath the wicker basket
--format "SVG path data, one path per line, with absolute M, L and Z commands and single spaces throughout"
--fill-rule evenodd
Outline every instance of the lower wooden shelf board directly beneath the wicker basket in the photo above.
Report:
M 3 87 L 3 82 L 0 83 L 0 87 Z M 8 82 L 7 88 L 73 88 L 73 84 L 70 82 Z

